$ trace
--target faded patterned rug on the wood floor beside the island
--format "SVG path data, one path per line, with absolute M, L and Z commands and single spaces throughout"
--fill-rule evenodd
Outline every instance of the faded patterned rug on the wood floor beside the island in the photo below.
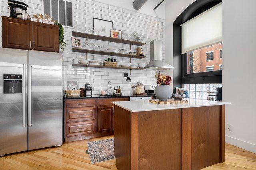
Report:
M 114 159 L 114 139 L 92 141 L 87 143 L 92 164 Z

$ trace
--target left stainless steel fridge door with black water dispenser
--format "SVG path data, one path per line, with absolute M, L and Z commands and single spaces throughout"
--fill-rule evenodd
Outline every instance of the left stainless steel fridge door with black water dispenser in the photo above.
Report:
M 0 48 L 0 155 L 27 150 L 27 61 L 27 50 Z

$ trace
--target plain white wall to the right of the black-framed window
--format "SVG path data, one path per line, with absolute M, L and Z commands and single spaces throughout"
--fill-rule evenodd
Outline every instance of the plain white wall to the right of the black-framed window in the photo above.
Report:
M 256 1 L 223 0 L 223 99 L 226 142 L 256 153 Z

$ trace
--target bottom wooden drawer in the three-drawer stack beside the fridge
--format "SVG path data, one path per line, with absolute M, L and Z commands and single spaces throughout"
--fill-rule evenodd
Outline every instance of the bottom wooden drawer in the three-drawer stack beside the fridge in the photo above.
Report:
M 66 137 L 95 133 L 95 121 L 84 121 L 66 124 Z

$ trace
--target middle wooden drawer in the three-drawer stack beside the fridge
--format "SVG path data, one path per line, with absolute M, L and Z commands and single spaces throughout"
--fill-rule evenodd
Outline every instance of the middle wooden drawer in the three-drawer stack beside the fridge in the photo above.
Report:
M 66 109 L 66 122 L 94 120 L 96 107 Z

